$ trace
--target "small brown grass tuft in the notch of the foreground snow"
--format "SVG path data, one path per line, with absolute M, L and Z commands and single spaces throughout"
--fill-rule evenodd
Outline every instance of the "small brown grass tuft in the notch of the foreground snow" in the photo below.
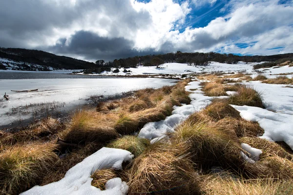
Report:
M 107 181 L 115 177 L 118 177 L 118 175 L 112 169 L 96 170 L 91 176 L 91 178 L 93 178 L 91 185 L 101 190 L 105 190 Z

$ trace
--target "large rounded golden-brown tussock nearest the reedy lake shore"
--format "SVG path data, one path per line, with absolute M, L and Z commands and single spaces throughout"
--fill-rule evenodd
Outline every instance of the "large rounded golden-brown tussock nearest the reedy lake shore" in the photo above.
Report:
M 112 115 L 102 115 L 97 112 L 78 110 L 71 123 L 60 136 L 71 143 L 107 142 L 118 137 L 113 128 Z

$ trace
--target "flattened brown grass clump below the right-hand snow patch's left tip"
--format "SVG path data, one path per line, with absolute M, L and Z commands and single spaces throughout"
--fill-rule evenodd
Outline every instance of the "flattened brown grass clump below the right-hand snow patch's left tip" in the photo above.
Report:
M 217 124 L 233 130 L 237 137 L 254 137 L 264 134 L 263 128 L 257 122 L 251 122 L 243 118 L 225 117 L 219 120 Z

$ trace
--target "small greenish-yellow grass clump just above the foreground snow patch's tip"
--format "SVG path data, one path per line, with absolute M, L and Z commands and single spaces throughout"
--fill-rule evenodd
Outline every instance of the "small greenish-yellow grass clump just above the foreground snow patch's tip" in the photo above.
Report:
M 139 156 L 149 145 L 150 142 L 148 139 L 137 136 L 124 136 L 111 141 L 107 147 L 127 150 L 134 156 Z

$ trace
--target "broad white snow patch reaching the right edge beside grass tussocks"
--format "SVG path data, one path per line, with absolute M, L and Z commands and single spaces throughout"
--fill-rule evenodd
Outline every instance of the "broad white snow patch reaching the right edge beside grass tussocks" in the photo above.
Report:
M 285 141 L 293 149 L 293 88 L 259 81 L 244 84 L 253 86 L 262 94 L 266 109 L 232 106 L 244 119 L 259 123 L 265 130 L 261 138 L 270 141 Z

